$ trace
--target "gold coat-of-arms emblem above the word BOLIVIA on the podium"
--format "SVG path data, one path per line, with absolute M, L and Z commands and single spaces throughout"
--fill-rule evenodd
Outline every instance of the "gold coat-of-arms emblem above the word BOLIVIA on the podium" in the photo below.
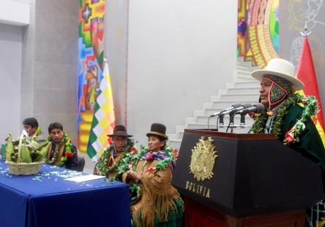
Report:
M 215 153 L 215 145 L 211 137 L 205 140 L 202 136 L 196 146 L 192 149 L 190 159 L 190 173 L 199 182 L 205 179 L 210 179 L 213 175 L 213 167 L 215 167 L 215 158 L 218 156 Z

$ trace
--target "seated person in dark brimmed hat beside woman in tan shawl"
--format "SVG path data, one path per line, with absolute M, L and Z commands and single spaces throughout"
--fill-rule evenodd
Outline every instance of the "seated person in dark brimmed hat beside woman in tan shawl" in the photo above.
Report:
M 126 153 L 137 153 L 137 150 L 134 147 L 133 140 L 129 139 L 132 135 L 127 134 L 125 126 L 115 126 L 113 134 L 108 135 L 108 137 L 110 138 L 110 145 L 103 150 L 93 174 L 120 179 L 119 162 L 125 157 Z

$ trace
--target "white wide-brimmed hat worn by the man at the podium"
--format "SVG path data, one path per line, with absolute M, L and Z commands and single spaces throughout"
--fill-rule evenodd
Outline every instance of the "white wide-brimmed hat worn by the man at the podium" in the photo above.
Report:
M 286 79 L 287 81 L 291 82 L 295 91 L 299 91 L 304 88 L 304 83 L 295 78 L 295 66 L 287 60 L 273 58 L 270 60 L 270 62 L 268 62 L 268 65 L 266 65 L 264 70 L 255 70 L 251 72 L 251 76 L 259 81 L 262 81 L 265 75 L 273 75 Z

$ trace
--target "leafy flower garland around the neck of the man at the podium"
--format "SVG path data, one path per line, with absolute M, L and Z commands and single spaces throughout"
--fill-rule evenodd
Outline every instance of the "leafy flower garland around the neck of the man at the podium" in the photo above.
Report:
M 272 126 L 272 133 L 275 134 L 277 138 L 281 135 L 281 126 L 283 125 L 283 118 L 287 114 L 287 109 L 292 105 L 303 104 L 302 116 L 297 119 L 295 125 L 285 133 L 285 140 L 283 143 L 288 145 L 290 143 L 299 142 L 299 136 L 304 131 L 304 123 L 308 118 L 311 118 L 317 113 L 317 100 L 314 96 L 302 96 L 301 94 L 293 94 L 287 97 L 283 101 L 283 105 L 280 106 L 278 113 L 275 116 Z M 256 119 L 251 128 L 251 133 L 264 133 L 264 128 L 266 126 L 266 121 L 268 120 L 268 115 L 266 113 L 255 115 Z

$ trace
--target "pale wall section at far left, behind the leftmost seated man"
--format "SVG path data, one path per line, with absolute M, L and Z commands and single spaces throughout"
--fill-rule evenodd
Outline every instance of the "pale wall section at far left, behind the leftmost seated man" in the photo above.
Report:
M 21 131 L 22 29 L 0 23 L 0 143 Z

